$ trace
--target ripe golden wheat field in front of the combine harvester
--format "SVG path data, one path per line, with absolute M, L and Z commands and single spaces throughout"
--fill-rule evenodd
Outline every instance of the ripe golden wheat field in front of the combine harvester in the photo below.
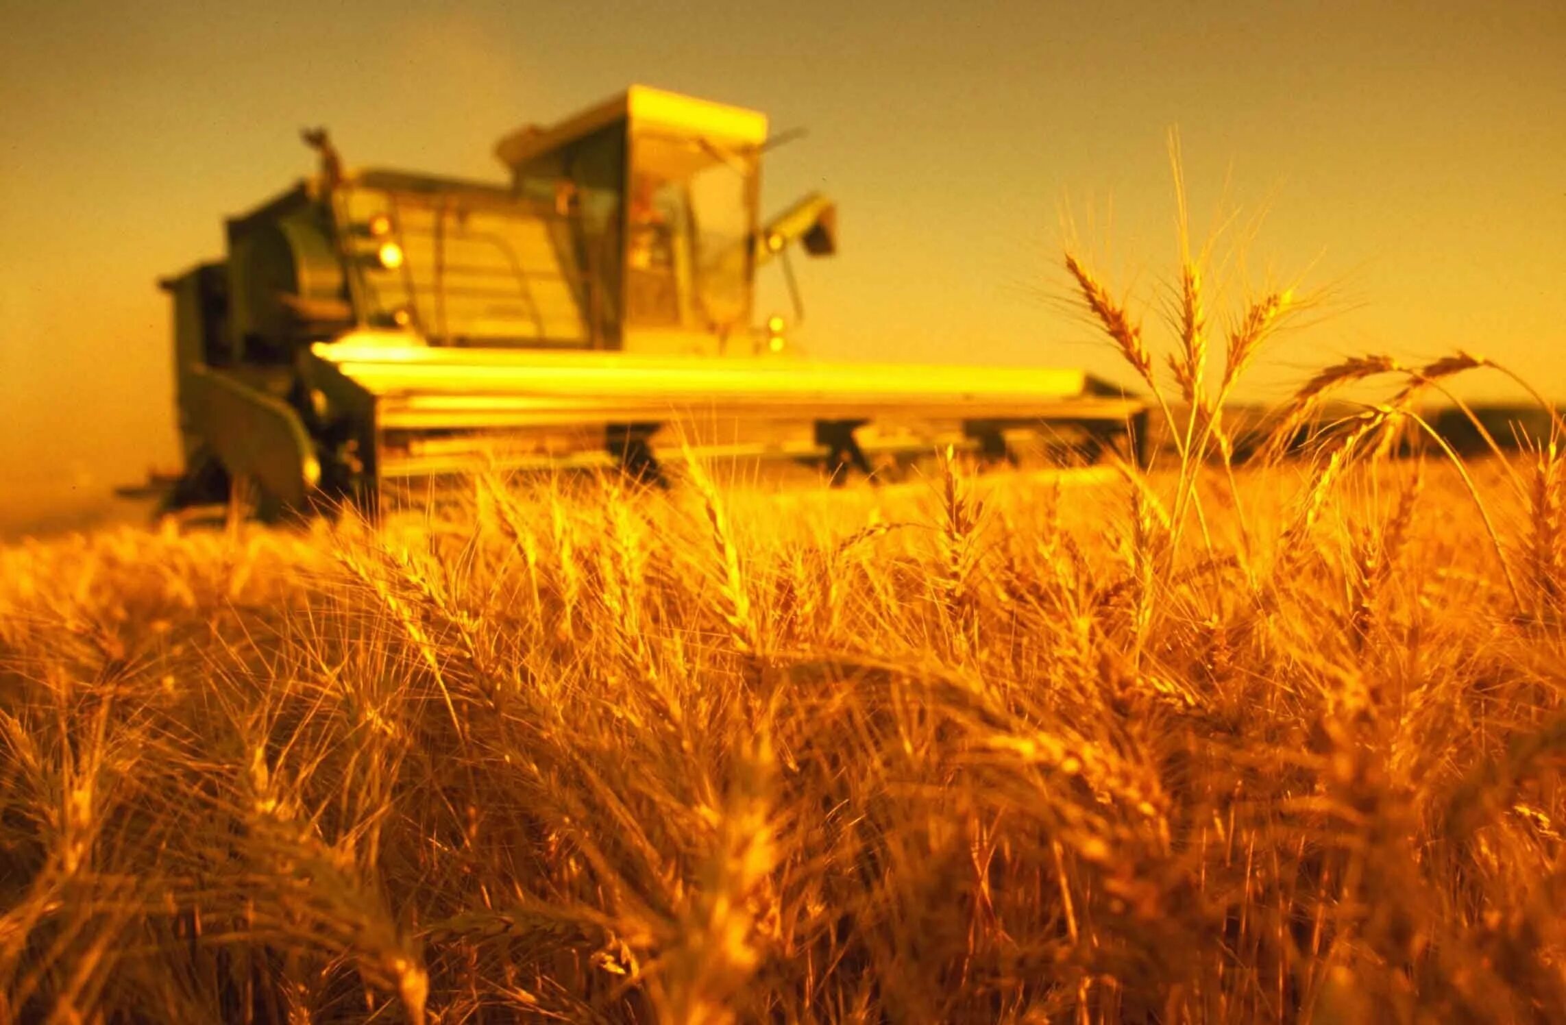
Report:
M 1066 271 L 1149 473 L 0 549 L 0 1020 L 1566 1020 L 1566 474 L 1420 418 L 1505 371 L 1231 466 L 1295 297 L 1160 372 Z

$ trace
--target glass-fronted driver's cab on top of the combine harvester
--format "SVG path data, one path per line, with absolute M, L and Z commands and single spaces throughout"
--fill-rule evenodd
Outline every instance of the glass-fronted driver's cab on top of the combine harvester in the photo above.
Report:
M 756 355 L 755 269 L 792 238 L 835 249 L 835 211 L 758 232 L 764 114 L 633 86 L 559 125 L 495 147 L 514 194 L 553 208 L 568 233 L 589 347 L 659 355 Z

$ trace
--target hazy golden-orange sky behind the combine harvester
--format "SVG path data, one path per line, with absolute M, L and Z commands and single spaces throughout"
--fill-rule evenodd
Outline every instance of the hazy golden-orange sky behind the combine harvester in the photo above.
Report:
M 1060 302 L 1063 225 L 1162 341 L 1178 130 L 1196 241 L 1243 257 L 1217 313 L 1325 291 L 1240 397 L 1466 347 L 1566 399 L 1561 0 L 0 0 L 0 518 L 174 463 L 155 282 L 313 171 L 301 127 L 349 166 L 503 182 L 500 136 L 630 83 L 806 130 L 763 213 L 839 203 L 839 254 L 796 263 L 816 357 L 1132 383 Z

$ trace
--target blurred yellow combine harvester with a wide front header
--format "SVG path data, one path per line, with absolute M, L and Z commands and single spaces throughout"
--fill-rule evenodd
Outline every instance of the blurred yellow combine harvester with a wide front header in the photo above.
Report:
M 305 139 L 319 174 L 161 282 L 185 459 L 166 507 L 374 512 L 479 462 L 662 482 L 681 446 L 861 473 L 946 444 L 1007 460 L 1029 432 L 1129 455 L 1145 429 L 1081 371 L 830 365 L 783 318 L 753 327 L 761 266 L 794 294 L 789 247 L 836 249 L 821 196 L 758 225 L 763 114 L 633 86 L 501 139 L 509 185 L 346 172 Z

